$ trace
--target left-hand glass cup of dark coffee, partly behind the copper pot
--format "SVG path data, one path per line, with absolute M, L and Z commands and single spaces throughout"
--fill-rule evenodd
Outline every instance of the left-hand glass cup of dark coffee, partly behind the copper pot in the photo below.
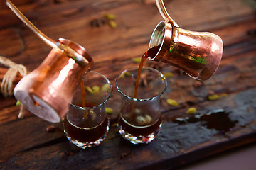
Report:
M 70 142 L 85 149 L 100 145 L 105 139 L 110 125 L 105 103 L 111 92 L 112 86 L 105 76 L 92 71 L 85 74 L 63 120 L 64 132 Z

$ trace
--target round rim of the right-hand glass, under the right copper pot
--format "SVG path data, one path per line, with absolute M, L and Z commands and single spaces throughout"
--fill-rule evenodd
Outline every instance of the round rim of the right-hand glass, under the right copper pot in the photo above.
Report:
M 164 79 L 165 86 L 164 86 L 163 91 L 161 91 L 161 93 L 159 93 L 157 96 L 154 96 L 154 97 L 151 97 L 151 98 L 133 98 L 133 97 L 131 97 L 131 96 L 127 96 L 126 94 L 124 94 L 124 93 L 121 91 L 121 89 L 119 89 L 119 86 L 118 86 L 119 77 L 121 77 L 121 75 L 124 74 L 124 72 L 127 72 L 128 70 L 130 70 L 130 69 L 135 69 L 135 68 L 139 68 L 139 66 L 130 67 L 129 69 L 124 69 L 124 71 L 122 71 L 122 72 L 118 75 L 118 77 L 117 77 L 117 79 L 116 79 L 116 86 L 117 86 L 117 91 L 118 91 L 120 94 L 122 94 L 124 97 L 126 97 L 126 98 L 128 98 L 128 99 L 130 99 L 130 100 L 132 100 L 132 101 L 152 101 L 152 100 L 154 100 L 154 99 L 156 99 L 156 98 L 159 98 L 162 94 L 164 94 L 164 91 L 166 91 L 166 87 L 167 87 L 167 80 L 166 80 L 166 77 L 164 77 L 164 74 L 162 74 L 161 72 L 159 72 L 157 69 L 154 69 L 154 68 L 152 68 L 152 67 L 146 67 L 146 66 L 144 66 L 144 67 L 142 68 L 142 70 L 143 70 L 143 69 L 150 69 L 150 70 L 152 70 L 152 71 L 154 71 L 154 72 L 158 72 L 158 73 L 160 74 L 160 76 Z

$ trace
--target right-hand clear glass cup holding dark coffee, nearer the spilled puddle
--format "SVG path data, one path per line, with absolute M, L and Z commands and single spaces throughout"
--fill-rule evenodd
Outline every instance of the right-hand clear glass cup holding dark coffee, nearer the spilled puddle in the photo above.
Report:
M 133 144 L 147 144 L 161 130 L 160 97 L 164 94 L 167 81 L 156 69 L 143 67 L 137 97 L 134 98 L 137 72 L 138 67 L 132 67 L 117 77 L 117 91 L 122 96 L 117 126 L 124 139 Z

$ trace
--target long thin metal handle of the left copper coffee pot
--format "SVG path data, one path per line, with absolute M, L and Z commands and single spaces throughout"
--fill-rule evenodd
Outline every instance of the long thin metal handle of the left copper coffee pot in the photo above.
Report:
M 89 63 L 85 59 L 85 57 L 78 54 L 78 52 L 75 52 L 75 50 L 73 50 L 72 48 L 63 45 L 60 42 L 56 42 L 55 40 L 49 38 L 47 35 L 42 33 L 41 30 L 38 30 L 38 28 L 36 28 L 36 26 L 34 26 L 33 23 L 31 23 L 31 21 L 29 21 L 28 18 L 26 18 L 26 16 L 24 16 L 23 13 L 21 13 L 21 11 L 19 11 L 18 8 L 16 8 L 16 6 L 14 6 L 14 4 L 11 3 L 11 1 L 5 1 L 6 5 L 11 9 L 11 11 L 13 11 L 16 14 L 16 16 L 18 16 L 18 18 L 20 18 L 21 21 L 23 21 L 23 23 L 25 23 L 26 26 L 28 26 L 28 28 L 30 28 L 33 31 L 33 33 L 35 33 L 38 36 L 38 38 L 43 40 L 43 42 L 46 42 L 47 45 L 49 45 L 50 47 L 59 48 L 60 50 L 64 50 L 68 57 L 73 58 L 73 60 L 75 60 L 75 62 L 78 62 L 78 64 L 85 66 Z

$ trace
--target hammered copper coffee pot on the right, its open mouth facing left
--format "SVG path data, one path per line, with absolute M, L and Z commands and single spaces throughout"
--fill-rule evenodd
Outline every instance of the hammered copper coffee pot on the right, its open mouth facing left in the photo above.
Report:
M 179 28 L 169 16 L 162 0 L 156 6 L 164 18 L 154 29 L 149 49 L 160 46 L 149 60 L 166 62 L 178 67 L 194 79 L 209 79 L 220 64 L 223 41 L 218 35 Z

